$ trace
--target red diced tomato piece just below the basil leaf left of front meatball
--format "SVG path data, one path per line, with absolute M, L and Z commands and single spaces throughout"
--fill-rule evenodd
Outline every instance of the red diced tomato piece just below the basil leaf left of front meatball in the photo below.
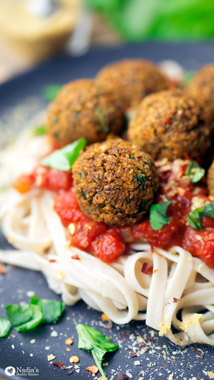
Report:
M 71 173 L 55 169 L 48 169 L 42 174 L 41 187 L 52 191 L 69 190 L 73 180 Z

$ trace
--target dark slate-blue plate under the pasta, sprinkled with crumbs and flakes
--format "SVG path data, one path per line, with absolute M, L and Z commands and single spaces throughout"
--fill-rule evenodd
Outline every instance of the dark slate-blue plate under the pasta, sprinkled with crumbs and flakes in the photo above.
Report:
M 163 59 L 174 59 L 187 70 L 197 70 L 205 63 L 214 61 L 214 44 L 145 43 L 94 49 L 78 58 L 60 55 L 0 86 L 0 120 L 1 118 L 3 120 L 5 113 L 12 112 L 17 105 L 23 105 L 29 97 L 36 96 L 41 105 L 45 105 L 42 89 L 46 84 L 63 84 L 76 78 L 93 77 L 106 63 L 127 57 L 143 57 L 156 62 Z M 8 249 L 9 247 L 4 237 L 0 236 L 0 248 Z M 21 301 L 28 302 L 29 298 L 26 292 L 29 290 L 35 291 L 41 298 L 60 300 L 60 296 L 48 288 L 46 280 L 40 272 L 8 266 L 8 272 L 0 275 L 0 316 L 5 315 L 4 305 Z M 142 377 L 144 380 L 168 379 L 171 374 L 173 374 L 173 380 L 176 378 L 186 380 L 200 378 L 202 380 L 202 378 L 209 378 L 206 372 L 214 372 L 213 347 L 194 345 L 181 350 L 165 337 L 159 338 L 157 333 L 154 335 L 155 341 L 148 342 L 148 350 L 144 355 L 129 358 L 130 350 L 126 350 L 126 348 L 133 343 L 130 339 L 133 337 L 132 334 L 135 337 L 141 335 L 151 338 L 151 329 L 144 322 L 139 321 L 131 321 L 124 326 L 117 326 L 113 323 L 113 328 L 108 329 L 106 328 L 107 322 L 101 321 L 101 313 L 79 301 L 75 306 L 66 306 L 62 318 L 55 325 L 45 325 L 22 333 L 17 333 L 13 328 L 8 337 L 2 338 L 0 341 L 0 374 L 8 379 L 20 378 L 16 375 L 5 375 L 5 368 L 13 366 L 17 371 L 16 374 L 19 375 L 20 368 L 24 369 L 24 378 L 26 379 L 32 379 L 32 375 L 26 372 L 27 369 L 28 371 L 33 369 L 35 374 L 38 373 L 36 378 L 39 380 L 67 378 L 69 369 L 60 370 L 48 362 L 47 355 L 52 353 L 55 356 L 54 360 L 65 366 L 71 365 L 69 363 L 70 356 L 79 357 L 79 372 L 76 372 L 74 366 L 71 368 L 75 369 L 70 375 L 71 378 L 75 375 L 74 380 L 96 378 L 96 375 L 93 377 L 86 371 L 87 366 L 94 364 L 92 355 L 78 349 L 75 324 L 80 322 L 94 326 L 106 336 L 111 336 L 115 343 L 119 340 L 121 345 L 119 350 L 113 355 L 106 355 L 105 361 L 108 362 L 108 366 L 105 366 L 104 369 L 109 379 L 111 377 L 117 379 L 118 372 L 127 370 L 130 371 L 131 378 Z M 58 337 L 51 337 L 52 327 L 58 332 Z M 16 337 L 11 337 L 11 334 Z M 71 346 L 65 345 L 66 336 L 73 337 Z M 35 344 L 30 343 L 32 339 L 36 340 Z M 12 345 L 14 348 L 11 347 Z M 46 346 L 51 346 L 49 351 L 45 350 Z M 66 347 L 69 347 L 71 351 L 67 352 Z M 162 350 L 155 347 L 162 347 Z M 199 354 L 203 352 L 204 357 L 200 358 L 193 349 L 199 350 Z M 141 364 L 135 365 L 134 361 L 136 360 L 139 360 Z M 141 371 L 145 373 L 140 374 Z M 97 377 L 100 377 L 99 373 Z

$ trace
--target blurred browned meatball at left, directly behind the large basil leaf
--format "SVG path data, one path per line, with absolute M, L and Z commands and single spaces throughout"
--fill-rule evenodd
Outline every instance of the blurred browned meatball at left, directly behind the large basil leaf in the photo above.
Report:
M 48 110 L 48 133 L 59 146 L 81 137 L 88 144 L 119 133 L 124 122 L 122 108 L 112 94 L 92 79 L 79 79 L 62 87 Z

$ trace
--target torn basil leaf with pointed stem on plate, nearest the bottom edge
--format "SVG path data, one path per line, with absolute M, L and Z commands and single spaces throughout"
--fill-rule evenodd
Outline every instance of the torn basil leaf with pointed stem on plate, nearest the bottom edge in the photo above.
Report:
M 101 366 L 103 356 L 106 352 L 118 350 L 119 346 L 107 339 L 100 331 L 92 329 L 89 326 L 78 324 L 76 325 L 76 331 L 79 337 L 78 348 L 91 350 L 100 373 L 102 376 L 106 376 Z

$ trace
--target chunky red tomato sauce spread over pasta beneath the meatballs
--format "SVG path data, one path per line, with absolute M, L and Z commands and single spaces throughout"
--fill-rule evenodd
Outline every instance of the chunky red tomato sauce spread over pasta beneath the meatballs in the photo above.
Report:
M 200 184 L 192 184 L 184 175 L 187 165 L 188 160 L 156 162 L 160 174 L 160 190 L 154 203 L 166 202 L 168 199 L 172 201 L 166 213 L 171 220 L 157 231 L 151 227 L 149 216 L 134 226 L 123 227 L 110 227 L 87 217 L 79 209 L 75 194 L 70 190 L 70 173 L 47 168 L 42 172 L 40 168 L 30 176 L 20 177 L 17 180 L 19 185 L 15 183 L 14 187 L 25 192 L 37 183 L 49 190 L 64 190 L 56 196 L 54 208 L 63 225 L 70 231 L 71 245 L 93 252 L 107 263 L 124 253 L 125 243 L 140 239 L 166 250 L 179 245 L 214 268 L 214 218 L 203 217 L 202 231 L 191 228 L 187 220 L 190 211 L 213 199 L 208 197 L 206 185 L 202 181 Z

